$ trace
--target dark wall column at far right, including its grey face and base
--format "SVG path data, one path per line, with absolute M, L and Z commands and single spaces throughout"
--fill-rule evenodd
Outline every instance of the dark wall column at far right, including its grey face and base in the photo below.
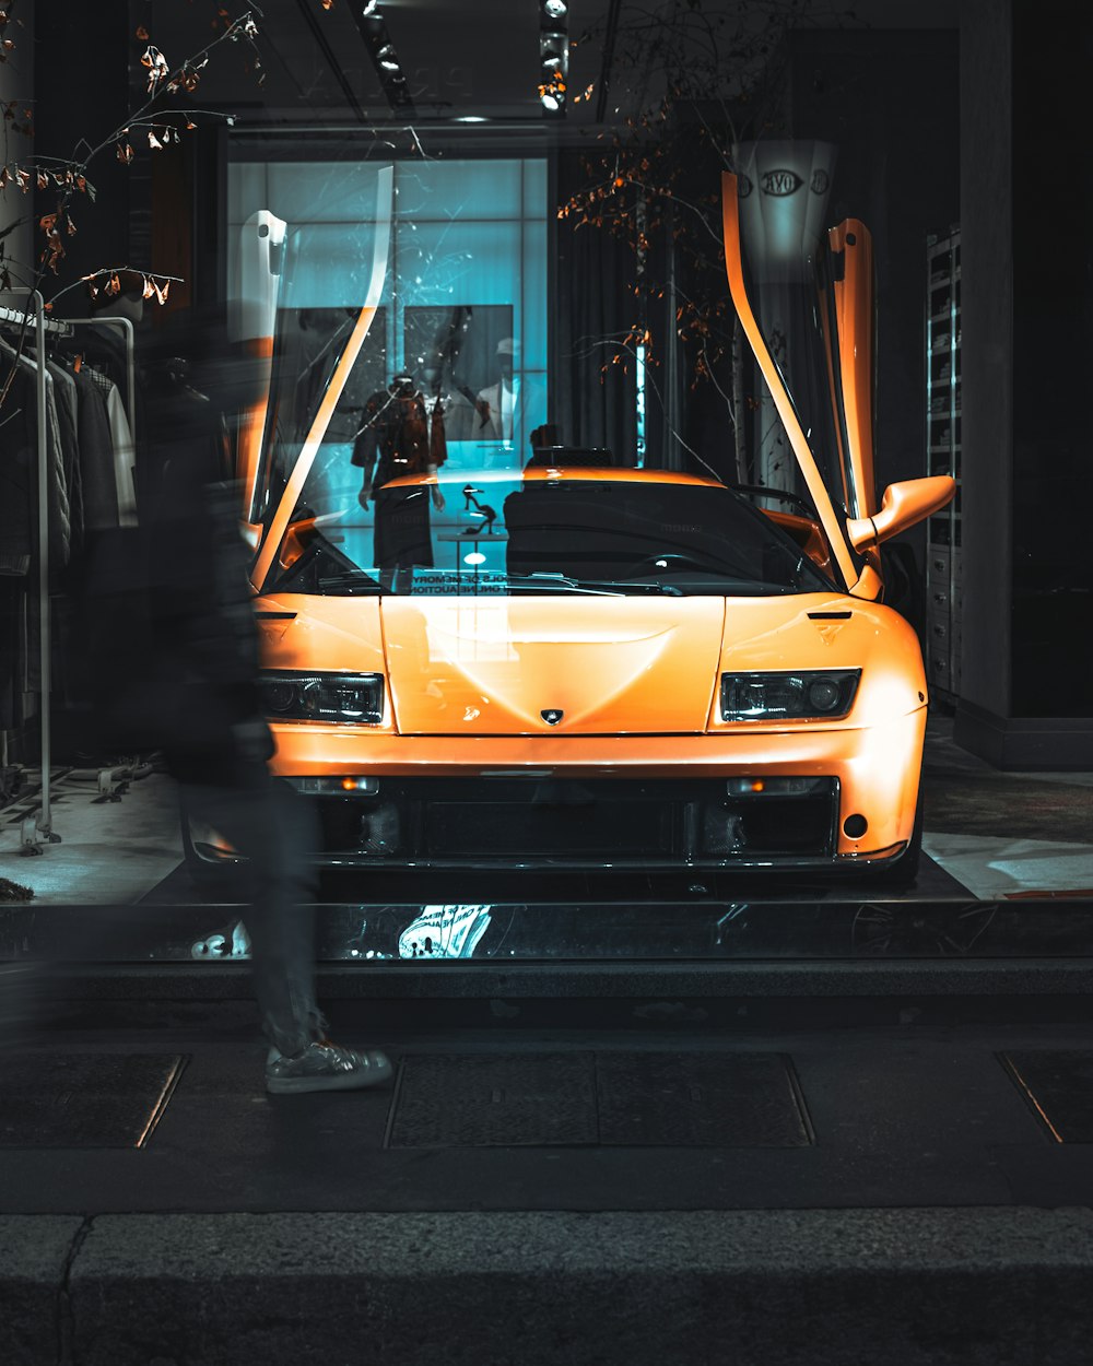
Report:
M 1086 5 L 965 0 L 965 647 L 959 744 L 1093 764 Z

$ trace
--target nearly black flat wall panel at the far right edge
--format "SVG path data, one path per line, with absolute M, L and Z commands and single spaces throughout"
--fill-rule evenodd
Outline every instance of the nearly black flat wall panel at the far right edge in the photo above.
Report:
M 1012 714 L 1093 717 L 1074 641 L 1093 639 L 1093 571 L 1075 553 L 1093 500 L 1088 113 L 1093 11 L 1014 4 Z

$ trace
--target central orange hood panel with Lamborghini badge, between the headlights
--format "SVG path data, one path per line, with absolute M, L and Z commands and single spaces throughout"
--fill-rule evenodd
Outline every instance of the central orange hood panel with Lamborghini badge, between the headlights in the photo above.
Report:
M 723 598 L 392 597 L 380 616 L 403 735 L 706 728 Z

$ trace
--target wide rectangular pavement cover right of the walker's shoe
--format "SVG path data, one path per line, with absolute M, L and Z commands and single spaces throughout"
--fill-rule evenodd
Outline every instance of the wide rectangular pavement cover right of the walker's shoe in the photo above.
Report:
M 783 1053 L 403 1057 L 388 1147 L 805 1147 Z

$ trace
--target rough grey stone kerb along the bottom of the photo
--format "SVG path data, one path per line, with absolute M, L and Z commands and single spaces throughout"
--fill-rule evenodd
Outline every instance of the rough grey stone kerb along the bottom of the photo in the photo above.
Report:
M 1078 1363 L 1090 1274 L 1088 1209 L 7 1216 L 0 1356 Z

